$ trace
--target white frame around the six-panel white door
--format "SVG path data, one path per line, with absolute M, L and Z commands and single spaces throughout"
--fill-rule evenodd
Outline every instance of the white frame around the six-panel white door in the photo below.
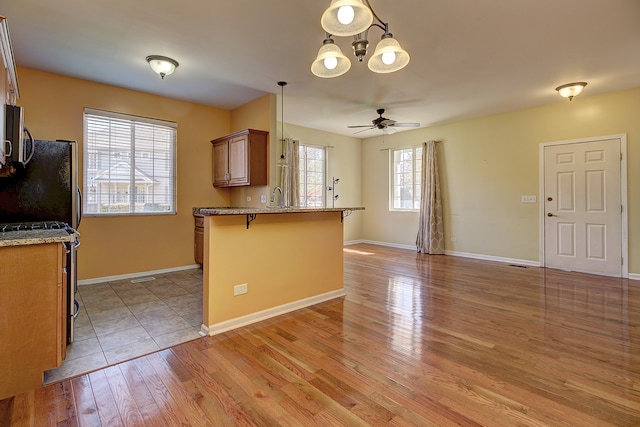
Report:
M 622 155 L 622 159 L 620 160 L 620 203 L 622 204 L 622 212 L 620 213 L 620 244 L 621 251 L 620 255 L 622 256 L 622 269 L 621 269 L 621 277 L 628 278 L 629 277 L 629 224 L 628 224 L 628 214 L 627 214 L 627 134 L 617 134 L 617 135 L 606 135 L 606 136 L 598 136 L 598 137 L 590 137 L 590 138 L 579 138 L 579 139 L 570 139 L 565 141 L 554 141 L 554 142 L 543 142 L 539 145 L 539 190 L 538 194 L 540 194 L 540 203 L 539 203 L 539 223 L 540 223 L 540 247 L 539 247 L 539 257 L 540 257 L 540 266 L 545 267 L 545 203 L 544 203 L 544 178 L 545 178 L 545 163 L 544 163 L 544 149 L 545 147 L 549 147 L 552 145 L 569 145 L 569 144 L 580 144 L 585 142 L 596 142 L 603 141 L 607 139 L 619 139 L 620 140 L 620 154 Z

